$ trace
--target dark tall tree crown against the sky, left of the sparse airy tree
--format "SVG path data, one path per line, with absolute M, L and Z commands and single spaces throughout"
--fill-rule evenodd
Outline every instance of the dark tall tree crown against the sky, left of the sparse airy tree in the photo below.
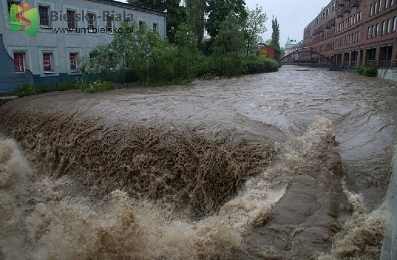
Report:
M 240 25 L 247 20 L 248 14 L 244 0 L 208 0 L 207 3 L 206 29 L 211 37 L 217 36 L 222 22 L 230 18 L 230 15 L 233 15 L 236 18 L 235 21 Z

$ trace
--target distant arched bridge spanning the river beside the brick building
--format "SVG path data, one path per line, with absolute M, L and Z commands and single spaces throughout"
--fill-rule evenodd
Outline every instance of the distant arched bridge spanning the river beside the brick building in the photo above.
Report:
M 294 50 L 281 58 L 281 64 L 333 67 L 335 64 L 327 56 L 313 51 L 311 47 Z

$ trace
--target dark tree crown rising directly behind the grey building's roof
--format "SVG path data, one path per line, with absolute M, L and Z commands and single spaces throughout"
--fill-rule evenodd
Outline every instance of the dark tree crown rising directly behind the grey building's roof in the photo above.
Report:
M 179 25 L 187 21 L 186 8 L 180 5 L 179 0 L 127 0 L 127 3 L 137 6 L 167 12 L 167 37 L 174 42 L 175 32 Z

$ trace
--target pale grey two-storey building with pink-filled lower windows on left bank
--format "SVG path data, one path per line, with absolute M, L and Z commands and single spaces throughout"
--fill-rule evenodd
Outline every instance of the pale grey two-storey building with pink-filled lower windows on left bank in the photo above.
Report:
M 114 0 L 1 0 L 0 13 L 0 93 L 79 77 L 78 57 L 110 43 L 123 20 L 166 34 L 164 12 Z

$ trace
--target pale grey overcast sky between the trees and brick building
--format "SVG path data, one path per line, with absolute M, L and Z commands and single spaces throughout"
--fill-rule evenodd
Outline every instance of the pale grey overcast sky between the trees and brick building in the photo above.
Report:
M 126 2 L 119 0 L 121 2 Z M 264 40 L 270 39 L 272 35 L 272 15 L 277 16 L 280 24 L 280 45 L 287 41 L 287 37 L 297 41 L 303 40 L 303 29 L 311 22 L 325 7 L 330 0 L 245 0 L 247 7 L 252 10 L 256 4 L 262 6 L 266 12 L 266 33 L 262 36 Z

